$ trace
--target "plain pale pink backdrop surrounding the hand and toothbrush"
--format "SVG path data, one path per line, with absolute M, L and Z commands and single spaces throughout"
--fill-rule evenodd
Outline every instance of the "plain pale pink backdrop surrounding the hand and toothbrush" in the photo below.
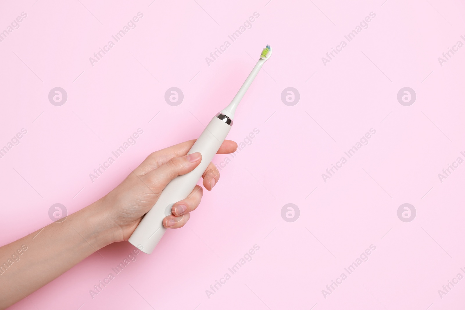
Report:
M 35 1 L 0 4 L 0 31 L 27 13 L 0 42 L 0 147 L 27 130 L 0 158 L 1 244 L 50 224 L 52 204 L 80 210 L 150 152 L 196 138 L 261 48 L 270 44 L 273 56 L 229 139 L 259 134 L 183 229 L 168 231 L 94 298 L 89 290 L 131 244 L 101 249 L 104 258 L 94 253 L 10 309 L 462 309 L 465 280 L 438 294 L 465 276 L 465 164 L 438 178 L 465 158 L 465 47 L 438 62 L 465 43 L 461 1 Z M 92 66 L 89 57 L 138 12 L 136 27 Z M 252 27 L 208 66 L 254 12 Z M 324 66 L 370 12 L 368 28 Z M 57 86 L 68 95 L 63 106 L 48 101 Z M 164 100 L 173 86 L 184 93 L 179 106 Z M 299 91 L 294 106 L 281 101 L 286 87 Z M 403 87 L 416 92 L 411 106 L 397 100 Z M 92 182 L 89 173 L 138 128 L 137 143 Z M 371 128 L 368 145 L 324 182 Z M 292 223 L 281 217 L 288 203 L 300 210 Z M 404 203 L 417 211 L 412 222 L 397 216 Z M 254 244 L 252 260 L 208 298 Z M 326 285 L 371 244 L 369 259 L 325 298 Z

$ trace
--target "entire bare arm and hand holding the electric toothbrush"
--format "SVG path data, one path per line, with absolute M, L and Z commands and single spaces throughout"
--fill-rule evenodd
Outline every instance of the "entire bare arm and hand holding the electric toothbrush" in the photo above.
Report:
M 200 153 L 186 155 L 194 142 L 153 152 L 120 185 L 93 204 L 60 223 L 0 247 L 0 309 L 27 297 L 104 246 L 127 240 L 165 186 L 200 164 Z M 218 154 L 236 149 L 235 142 L 225 140 Z M 210 163 L 202 178 L 210 191 L 219 180 L 219 171 Z M 203 189 L 196 185 L 186 199 L 173 205 L 173 214 L 163 219 L 163 225 L 179 228 L 186 224 L 202 195 Z M 8 264 L 8 260 L 13 263 Z

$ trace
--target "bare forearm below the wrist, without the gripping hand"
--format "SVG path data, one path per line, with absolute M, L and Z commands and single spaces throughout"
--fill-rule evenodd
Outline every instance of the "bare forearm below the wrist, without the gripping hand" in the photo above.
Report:
M 101 200 L 0 248 L 0 309 L 59 277 L 114 240 Z

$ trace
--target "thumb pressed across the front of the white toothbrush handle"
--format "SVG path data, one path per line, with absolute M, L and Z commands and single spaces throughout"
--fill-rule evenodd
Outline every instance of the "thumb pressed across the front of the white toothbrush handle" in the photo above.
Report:
M 202 154 L 195 152 L 181 157 L 173 157 L 157 169 L 146 174 L 149 184 L 157 191 L 177 176 L 193 171 L 202 161 Z

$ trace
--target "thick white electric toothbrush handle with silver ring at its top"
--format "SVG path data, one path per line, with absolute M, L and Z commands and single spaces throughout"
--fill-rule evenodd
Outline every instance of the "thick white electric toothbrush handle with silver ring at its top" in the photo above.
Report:
M 223 120 L 222 120 L 223 119 Z M 174 178 L 161 192 L 155 205 L 146 213 L 139 226 L 129 238 L 129 242 L 139 250 L 150 254 L 166 231 L 163 218 L 171 214 L 171 207 L 179 200 L 187 198 L 199 178 L 205 172 L 213 156 L 231 130 L 232 121 L 218 114 L 206 126 L 188 154 L 200 152 L 202 161 L 193 171 Z

